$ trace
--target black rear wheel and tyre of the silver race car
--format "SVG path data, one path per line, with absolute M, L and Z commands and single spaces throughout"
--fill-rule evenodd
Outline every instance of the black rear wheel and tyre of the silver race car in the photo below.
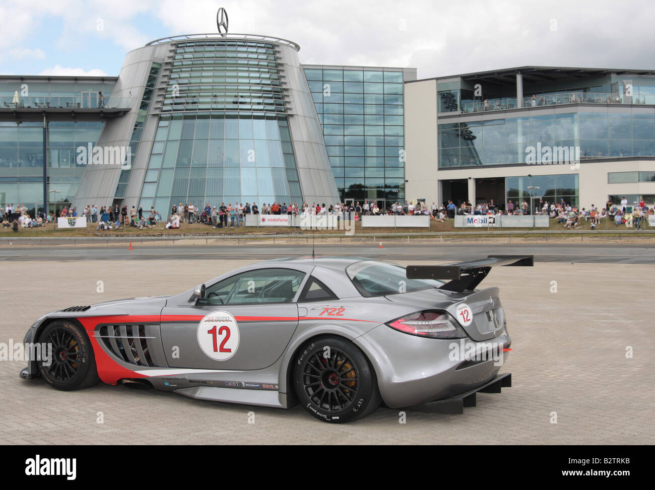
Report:
M 324 422 L 352 422 L 382 402 L 366 356 L 340 337 L 318 337 L 305 344 L 295 359 L 293 384 L 300 404 Z

